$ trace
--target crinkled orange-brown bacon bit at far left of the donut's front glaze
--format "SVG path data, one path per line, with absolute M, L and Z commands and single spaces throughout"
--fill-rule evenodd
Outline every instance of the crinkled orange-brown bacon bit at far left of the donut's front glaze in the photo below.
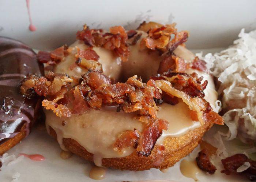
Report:
M 71 109 L 62 104 L 54 103 L 50 100 L 43 100 L 42 106 L 46 107 L 47 110 L 53 110 L 58 117 L 70 117 L 71 116 Z

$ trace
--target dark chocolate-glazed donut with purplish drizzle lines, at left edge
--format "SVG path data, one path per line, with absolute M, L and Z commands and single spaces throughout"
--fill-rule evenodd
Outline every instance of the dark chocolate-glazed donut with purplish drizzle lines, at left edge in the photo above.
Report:
M 44 74 L 35 52 L 0 36 L 0 154 L 26 137 L 37 119 L 41 99 L 32 90 L 26 96 L 19 93 L 20 82 L 30 74 Z

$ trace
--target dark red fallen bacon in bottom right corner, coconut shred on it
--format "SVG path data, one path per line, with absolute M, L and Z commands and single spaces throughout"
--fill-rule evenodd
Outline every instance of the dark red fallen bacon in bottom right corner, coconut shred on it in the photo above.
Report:
M 230 174 L 240 174 L 245 176 L 251 181 L 256 180 L 256 161 L 248 159 L 244 154 L 236 154 L 231 157 L 227 157 L 221 160 L 222 165 L 224 166 L 224 170 L 221 173 L 225 173 L 226 175 Z M 250 167 L 241 173 L 237 172 L 238 167 L 242 166 L 245 162 L 250 163 Z

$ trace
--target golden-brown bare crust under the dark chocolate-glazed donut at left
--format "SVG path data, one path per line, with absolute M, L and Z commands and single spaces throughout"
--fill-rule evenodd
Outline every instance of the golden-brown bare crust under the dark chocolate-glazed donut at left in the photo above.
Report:
M 0 145 L 0 155 L 3 155 L 7 150 L 17 145 L 23 138 L 26 137 L 26 134 L 27 132 L 26 132 L 26 123 L 25 123 L 21 127 L 20 132 L 17 135 L 15 135 L 14 138 L 11 138 Z

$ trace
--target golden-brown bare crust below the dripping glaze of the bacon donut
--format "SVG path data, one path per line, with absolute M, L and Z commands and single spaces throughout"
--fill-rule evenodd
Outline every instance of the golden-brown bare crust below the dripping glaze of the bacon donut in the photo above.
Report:
M 206 123 L 203 126 L 189 131 L 187 134 L 178 137 L 170 138 L 167 137 L 163 143 L 165 151 L 163 152 L 164 160 L 160 166 L 154 166 L 153 163 L 157 159 L 157 152 L 154 148 L 148 157 L 138 157 L 136 151 L 131 155 L 122 158 L 108 158 L 102 159 L 102 165 L 121 170 L 133 170 L 142 171 L 149 170 L 151 168 L 166 169 L 173 166 L 181 158 L 185 157 L 192 152 L 193 149 L 198 145 L 199 141 L 203 137 L 204 132 L 212 127 L 212 123 Z M 57 138 L 56 132 L 50 127 L 50 135 Z M 63 144 L 66 149 L 72 153 L 88 160 L 93 161 L 93 154 L 89 153 L 84 147 L 78 142 L 71 138 L 63 138 Z

